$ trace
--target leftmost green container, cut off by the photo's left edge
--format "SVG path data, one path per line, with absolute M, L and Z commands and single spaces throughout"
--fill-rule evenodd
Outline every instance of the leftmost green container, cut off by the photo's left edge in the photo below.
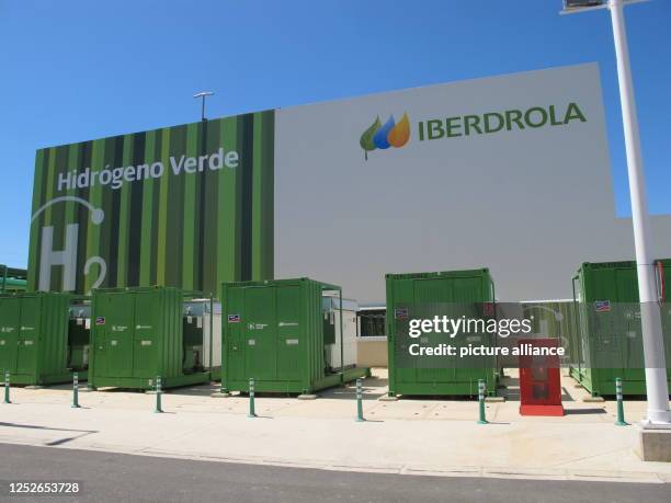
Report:
M 0 296 L 0 369 L 12 384 L 69 382 L 72 371 L 87 378 L 89 335 L 70 328 L 72 300 L 57 293 Z

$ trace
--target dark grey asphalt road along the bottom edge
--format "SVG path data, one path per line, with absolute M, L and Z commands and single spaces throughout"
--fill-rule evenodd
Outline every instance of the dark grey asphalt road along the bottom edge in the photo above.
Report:
M 668 503 L 671 484 L 406 477 L 250 466 L 0 444 L 0 500 L 42 502 L 9 494 L 8 481 L 69 481 L 79 493 L 48 502 L 111 503 Z

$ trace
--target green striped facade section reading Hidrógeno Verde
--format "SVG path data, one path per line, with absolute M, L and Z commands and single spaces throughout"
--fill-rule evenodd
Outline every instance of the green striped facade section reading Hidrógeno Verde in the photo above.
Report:
M 30 289 L 41 285 L 44 229 L 53 227 L 50 249 L 59 251 L 70 224 L 78 225 L 77 293 L 161 285 L 218 294 L 223 282 L 272 278 L 274 127 L 274 111 L 266 111 L 38 150 Z M 179 174 L 172 170 L 171 158 L 198 159 L 220 148 L 237 152 L 235 168 L 182 169 Z M 156 162 L 163 165 L 160 176 L 122 181 L 117 188 L 62 182 L 68 173 L 87 168 L 102 176 L 105 169 Z M 62 196 L 70 198 L 54 202 Z M 72 197 L 102 209 L 102 222 L 96 224 L 91 208 Z M 64 271 L 50 267 L 49 290 L 64 289 Z

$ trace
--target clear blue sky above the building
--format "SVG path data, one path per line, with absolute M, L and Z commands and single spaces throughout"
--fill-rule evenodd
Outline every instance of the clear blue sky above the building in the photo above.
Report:
M 0 263 L 26 263 L 35 150 L 431 83 L 599 61 L 629 214 L 610 18 L 561 0 L 0 0 Z M 671 1 L 627 8 L 650 210 L 671 214 Z

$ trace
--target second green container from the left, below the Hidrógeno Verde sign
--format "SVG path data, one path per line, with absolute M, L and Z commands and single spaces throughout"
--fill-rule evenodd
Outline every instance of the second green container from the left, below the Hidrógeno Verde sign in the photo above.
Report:
M 209 381 L 184 338 L 184 294 L 173 287 L 93 290 L 93 388 L 152 389 Z

